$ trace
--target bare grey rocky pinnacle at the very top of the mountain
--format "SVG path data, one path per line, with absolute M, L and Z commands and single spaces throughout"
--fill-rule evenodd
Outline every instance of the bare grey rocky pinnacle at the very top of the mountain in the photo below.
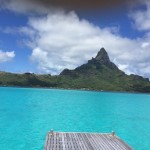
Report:
M 95 57 L 95 60 L 101 62 L 101 63 L 108 63 L 110 62 L 109 56 L 104 48 L 101 48 L 98 52 L 97 56 Z

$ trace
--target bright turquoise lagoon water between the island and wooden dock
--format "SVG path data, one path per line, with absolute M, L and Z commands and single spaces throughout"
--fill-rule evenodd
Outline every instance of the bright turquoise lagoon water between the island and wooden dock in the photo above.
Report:
M 150 149 L 150 95 L 0 88 L 0 149 L 43 150 L 46 133 L 111 132 Z

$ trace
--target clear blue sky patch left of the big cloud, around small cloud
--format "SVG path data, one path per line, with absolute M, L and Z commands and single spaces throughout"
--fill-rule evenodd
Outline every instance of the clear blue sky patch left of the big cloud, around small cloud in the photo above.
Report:
M 14 13 L 10 10 L 0 11 L 0 49 L 3 52 L 14 51 L 15 57 L 12 60 L 8 60 L 0 63 L 1 71 L 9 72 L 24 72 L 34 69 L 33 65 L 29 61 L 31 51 L 28 47 L 21 44 L 22 36 L 14 33 L 3 32 L 7 28 L 20 27 L 26 25 L 27 16 Z

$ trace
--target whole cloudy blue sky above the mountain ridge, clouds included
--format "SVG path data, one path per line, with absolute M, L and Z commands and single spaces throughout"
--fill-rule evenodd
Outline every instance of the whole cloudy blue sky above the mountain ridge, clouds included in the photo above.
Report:
M 0 0 L 0 71 L 59 74 L 104 47 L 150 78 L 149 0 Z

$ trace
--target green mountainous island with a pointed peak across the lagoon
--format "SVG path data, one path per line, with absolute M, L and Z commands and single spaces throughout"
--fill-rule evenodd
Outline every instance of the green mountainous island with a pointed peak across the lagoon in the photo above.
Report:
M 148 78 L 126 75 L 110 61 L 104 48 L 86 64 L 64 69 L 57 76 L 0 72 L 0 85 L 150 93 Z

